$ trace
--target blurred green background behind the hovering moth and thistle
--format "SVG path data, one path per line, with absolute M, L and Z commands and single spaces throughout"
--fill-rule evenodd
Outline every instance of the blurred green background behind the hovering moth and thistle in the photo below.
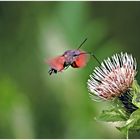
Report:
M 85 37 L 100 61 L 126 51 L 139 69 L 140 2 L 0 2 L 0 138 L 124 138 L 94 120 L 106 107 L 86 88 L 94 59 L 48 75 L 44 61 Z

